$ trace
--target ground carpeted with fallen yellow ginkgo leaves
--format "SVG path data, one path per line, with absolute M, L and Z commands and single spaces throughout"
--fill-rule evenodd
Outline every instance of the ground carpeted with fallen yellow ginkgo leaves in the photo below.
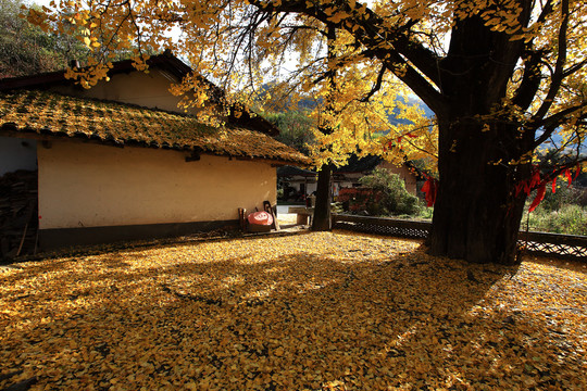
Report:
M 309 232 L 0 273 L 0 390 L 585 390 L 587 267 Z

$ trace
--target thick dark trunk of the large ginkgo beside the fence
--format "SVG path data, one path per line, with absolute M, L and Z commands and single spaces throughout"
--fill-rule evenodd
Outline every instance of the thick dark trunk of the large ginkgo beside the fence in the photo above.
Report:
M 527 20 L 529 10 L 524 10 L 520 17 Z M 445 101 L 436 111 L 439 187 L 432 254 L 471 263 L 515 262 L 526 201 L 525 193 L 515 194 L 515 186 L 529 177 L 529 163 L 520 161 L 534 134 L 521 131 L 504 99 L 522 51 L 521 41 L 491 31 L 479 16 L 453 27 L 449 54 L 439 64 Z

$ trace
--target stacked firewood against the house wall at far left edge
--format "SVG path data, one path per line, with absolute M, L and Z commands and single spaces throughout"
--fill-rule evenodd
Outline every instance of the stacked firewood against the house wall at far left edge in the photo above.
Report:
M 36 252 L 37 172 L 16 171 L 0 177 L 0 258 Z

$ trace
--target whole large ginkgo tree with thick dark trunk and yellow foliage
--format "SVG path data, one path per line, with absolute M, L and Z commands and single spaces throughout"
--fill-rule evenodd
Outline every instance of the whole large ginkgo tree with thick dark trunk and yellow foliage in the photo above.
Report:
M 115 50 L 134 48 L 141 68 L 143 50 L 173 47 L 235 100 L 257 98 L 270 76 L 295 86 L 284 89 L 290 94 L 328 96 L 321 115 L 332 131 L 319 164 L 349 148 L 436 156 L 433 254 L 513 262 L 530 191 L 538 202 L 557 176 L 571 181 L 585 166 L 583 1 L 68 0 L 28 18 L 57 30 L 83 26 L 96 61 L 73 77 L 86 87 L 104 77 Z M 379 126 L 401 88 L 435 112 L 434 124 L 415 115 L 410 125 Z M 545 146 L 557 152 L 548 167 L 535 159 Z

